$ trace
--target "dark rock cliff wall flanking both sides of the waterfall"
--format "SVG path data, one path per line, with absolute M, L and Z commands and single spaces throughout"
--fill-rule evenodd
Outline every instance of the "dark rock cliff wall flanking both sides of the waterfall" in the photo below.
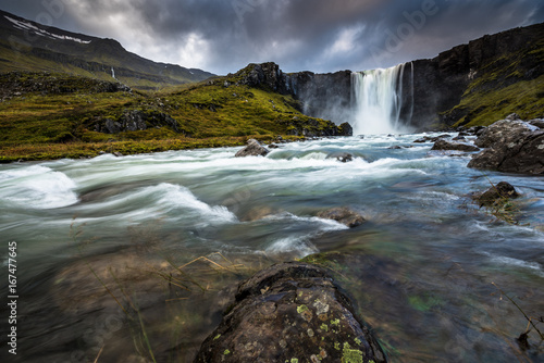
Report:
M 351 121 L 354 107 L 351 72 L 329 74 L 298 72 L 285 74 L 275 63 L 250 64 L 237 73 L 243 84 L 283 95 L 300 101 L 299 109 L 309 116 L 331 120 L 336 124 Z M 403 109 L 400 118 L 416 130 L 445 128 L 468 124 L 490 104 L 467 101 L 474 92 L 498 92 L 490 102 L 497 103 L 498 116 L 511 112 L 514 104 L 500 91 L 522 82 L 544 75 L 544 24 L 516 28 L 455 47 L 430 60 L 409 62 L 403 73 Z M 531 86 L 537 87 L 537 86 Z M 527 90 L 527 87 L 526 89 Z M 511 91 L 511 90 L 510 90 Z M 533 98 L 542 98 L 542 90 L 530 90 Z M 514 91 L 516 93 L 516 91 Z M 475 93 L 474 93 L 475 95 Z M 539 96 L 540 95 L 540 96 Z M 515 97 L 519 98 L 517 95 Z M 519 103 L 519 102 L 518 102 Z M 526 102 L 527 103 L 527 102 Z M 509 105 L 510 109 L 507 108 Z M 528 108 L 537 109 L 533 102 Z M 534 111 L 534 110 L 533 110 Z M 537 112 L 542 113 L 542 109 Z M 526 115 L 528 118 L 532 114 Z M 481 121 L 479 121 L 481 123 Z

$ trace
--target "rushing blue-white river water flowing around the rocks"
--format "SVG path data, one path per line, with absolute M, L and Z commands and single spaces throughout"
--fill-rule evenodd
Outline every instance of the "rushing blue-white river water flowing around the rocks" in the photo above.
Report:
M 1 361 L 188 362 L 242 279 L 330 251 L 392 362 L 542 361 L 534 329 L 517 338 L 544 314 L 544 178 L 469 170 L 418 137 L 0 166 L 3 301 L 10 241 L 18 295 Z M 522 193 L 519 225 L 468 197 L 502 180 Z M 316 217 L 344 205 L 368 222 Z

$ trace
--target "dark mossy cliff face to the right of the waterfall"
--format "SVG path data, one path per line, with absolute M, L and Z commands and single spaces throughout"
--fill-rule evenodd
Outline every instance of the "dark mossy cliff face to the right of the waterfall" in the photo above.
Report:
M 412 125 L 420 129 L 436 125 L 453 126 L 469 113 L 475 116 L 483 111 L 478 110 L 475 104 L 472 108 L 458 107 L 467 93 L 500 91 L 516 83 L 539 78 L 544 74 L 539 55 L 542 53 L 539 53 L 542 39 L 544 24 L 536 24 L 487 35 L 442 52 L 432 60 L 412 62 Z M 407 74 L 404 82 L 409 82 Z M 408 89 L 404 88 L 405 98 L 410 97 Z M 503 116 L 506 116 L 508 111 L 504 113 Z

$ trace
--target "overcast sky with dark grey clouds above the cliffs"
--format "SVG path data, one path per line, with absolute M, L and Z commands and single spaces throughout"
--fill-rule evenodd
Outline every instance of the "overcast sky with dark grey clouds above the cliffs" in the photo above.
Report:
M 544 22 L 542 0 L 0 0 L 0 9 L 215 74 L 268 61 L 285 72 L 387 67 Z

